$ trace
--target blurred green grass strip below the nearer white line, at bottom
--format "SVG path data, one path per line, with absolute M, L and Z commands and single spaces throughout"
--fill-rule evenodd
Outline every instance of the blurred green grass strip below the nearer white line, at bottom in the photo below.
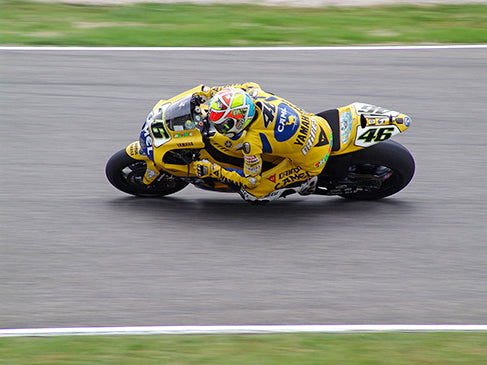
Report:
M 487 333 L 0 338 L 0 364 L 487 364 Z

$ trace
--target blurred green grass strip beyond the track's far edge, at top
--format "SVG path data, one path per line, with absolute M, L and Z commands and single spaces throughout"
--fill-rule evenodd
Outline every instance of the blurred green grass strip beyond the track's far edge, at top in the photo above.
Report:
M 487 5 L 81 6 L 0 0 L 1 45 L 322 46 L 487 43 Z

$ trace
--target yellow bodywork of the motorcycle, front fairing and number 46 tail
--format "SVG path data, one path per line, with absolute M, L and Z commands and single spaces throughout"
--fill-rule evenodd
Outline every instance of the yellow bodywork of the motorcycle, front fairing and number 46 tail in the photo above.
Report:
M 194 94 L 199 94 L 201 90 L 200 85 L 171 99 L 160 100 L 154 106 L 146 121 L 145 140 L 142 141 L 147 145 L 148 154 L 143 153 L 141 140 L 127 147 L 129 156 L 147 163 L 143 179 L 145 184 L 151 184 L 162 172 L 166 171 L 200 188 L 235 192 L 234 188 L 219 180 L 200 179 L 193 171 L 190 171 L 189 163 L 195 157 L 194 154 L 197 154 L 197 159 L 206 159 L 228 169 L 242 169 L 241 147 L 246 132 L 243 132 L 238 139 L 230 139 L 214 133 L 205 146 L 202 133 L 196 125 L 197 121 L 189 118 L 177 120 L 177 123 L 167 121 L 166 117 L 170 109 L 178 106 L 184 108 L 188 100 Z M 206 108 L 207 105 L 201 105 L 201 112 L 205 112 Z M 336 120 L 329 120 L 325 117 L 334 132 L 331 156 L 354 152 L 382 142 L 405 131 L 411 123 L 411 118 L 405 114 L 365 103 L 355 102 L 334 111 Z M 281 162 L 282 158 L 264 156 L 264 161 L 267 163 L 268 169 L 263 173 L 263 179 L 273 181 L 272 179 L 277 176 L 275 177 L 270 169 Z M 289 174 L 279 176 L 279 180 L 294 179 L 295 175 L 298 176 L 299 173 L 301 172 L 290 168 Z

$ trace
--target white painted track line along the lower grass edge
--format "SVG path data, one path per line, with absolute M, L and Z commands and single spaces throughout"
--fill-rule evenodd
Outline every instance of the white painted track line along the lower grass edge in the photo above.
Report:
M 487 325 L 248 325 L 137 326 L 0 329 L 0 337 L 76 335 L 231 335 L 276 333 L 467 332 L 487 331 Z

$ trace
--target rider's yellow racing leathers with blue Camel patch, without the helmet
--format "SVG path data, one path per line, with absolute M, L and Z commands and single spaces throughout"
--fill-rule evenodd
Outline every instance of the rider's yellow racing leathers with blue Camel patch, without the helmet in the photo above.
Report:
M 332 131 L 325 119 L 263 91 L 256 83 L 232 87 L 245 90 L 256 109 L 251 124 L 237 138 L 244 155 L 243 169 L 227 169 L 208 161 L 196 161 L 193 168 L 199 166 L 200 176 L 204 171 L 203 177 L 211 176 L 240 187 L 241 195 L 247 200 L 265 200 L 274 191 L 304 187 L 305 181 L 320 174 L 332 146 Z M 211 88 L 206 96 L 223 88 Z M 263 171 L 264 156 L 267 160 L 273 157 L 280 162 Z

